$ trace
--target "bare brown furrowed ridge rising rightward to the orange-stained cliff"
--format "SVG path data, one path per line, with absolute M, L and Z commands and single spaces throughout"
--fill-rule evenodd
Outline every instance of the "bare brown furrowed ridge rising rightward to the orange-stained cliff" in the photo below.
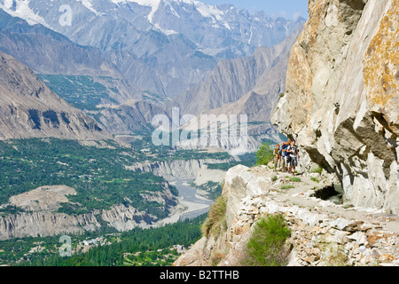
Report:
M 293 34 L 287 36 L 285 41 L 274 47 L 263 46 L 256 49 L 249 57 L 219 61 L 217 67 L 207 75 L 203 83 L 184 92 L 179 99 L 176 99 L 182 112 L 206 114 L 215 110 L 217 113 L 225 114 L 223 108 L 216 109 L 223 106 L 229 108 L 229 104 L 235 103 L 234 108 L 238 108 L 235 114 L 239 114 L 248 105 L 246 101 L 250 100 L 254 93 L 264 96 L 266 101 L 264 105 L 270 107 L 271 112 L 271 109 L 275 108 L 273 102 L 277 101 L 278 94 L 286 90 L 288 58 L 301 29 L 301 27 L 298 28 Z M 245 113 L 254 115 L 256 112 L 246 110 Z M 264 114 L 264 116 L 266 117 L 262 119 L 257 117 L 258 121 L 270 122 L 268 119 L 270 114 Z

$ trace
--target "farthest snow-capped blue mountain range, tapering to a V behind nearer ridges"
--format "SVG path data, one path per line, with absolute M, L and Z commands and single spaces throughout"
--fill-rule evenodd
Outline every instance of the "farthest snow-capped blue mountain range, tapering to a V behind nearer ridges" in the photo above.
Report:
M 0 0 L 0 8 L 98 48 L 130 82 L 170 98 L 200 83 L 218 59 L 274 46 L 303 22 L 189 0 Z

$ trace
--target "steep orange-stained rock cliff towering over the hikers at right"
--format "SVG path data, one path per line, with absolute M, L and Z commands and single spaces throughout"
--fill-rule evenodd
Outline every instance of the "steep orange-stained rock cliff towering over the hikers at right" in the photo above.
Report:
M 345 199 L 399 213 L 399 1 L 310 0 L 272 121 Z

